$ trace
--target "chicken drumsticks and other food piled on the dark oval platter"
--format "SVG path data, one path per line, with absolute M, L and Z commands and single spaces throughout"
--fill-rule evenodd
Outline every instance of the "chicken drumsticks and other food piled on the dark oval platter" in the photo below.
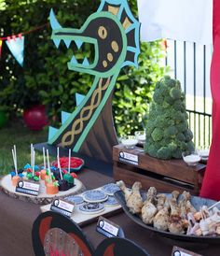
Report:
M 117 185 L 124 194 L 129 211 L 158 231 L 173 235 L 220 235 L 220 209 L 217 204 L 196 208 L 189 192 L 158 193 L 155 187 L 142 193 L 139 181 L 134 182 L 131 190 L 122 180 Z

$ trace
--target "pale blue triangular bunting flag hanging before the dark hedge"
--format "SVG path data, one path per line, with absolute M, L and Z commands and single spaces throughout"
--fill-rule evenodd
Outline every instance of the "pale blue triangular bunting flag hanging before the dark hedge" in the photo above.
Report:
M 12 36 L 7 38 L 7 47 L 17 62 L 23 66 L 24 36 Z

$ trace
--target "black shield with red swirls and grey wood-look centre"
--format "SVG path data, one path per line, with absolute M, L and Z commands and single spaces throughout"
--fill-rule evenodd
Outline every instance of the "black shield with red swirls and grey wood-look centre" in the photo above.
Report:
M 32 239 L 36 256 L 92 256 L 94 252 L 73 220 L 52 211 L 41 213 L 34 220 Z

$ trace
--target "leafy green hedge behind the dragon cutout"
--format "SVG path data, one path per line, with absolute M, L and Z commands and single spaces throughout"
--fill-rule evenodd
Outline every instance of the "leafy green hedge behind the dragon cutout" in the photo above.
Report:
M 137 15 L 136 1 L 130 0 L 131 10 Z M 3 44 L 0 62 L 0 106 L 17 112 L 42 103 L 50 117 L 60 120 L 61 110 L 71 112 L 76 107 L 75 93 L 86 94 L 93 77 L 67 68 L 73 50 L 61 46 L 56 49 L 50 39 L 48 23 L 50 8 L 65 27 L 79 28 L 97 10 L 100 0 L 0 0 L 0 36 L 18 35 L 46 24 L 26 34 L 24 66 L 21 68 Z M 162 57 L 160 42 L 142 43 L 139 69 L 125 67 L 117 79 L 113 113 L 119 135 L 144 128 L 144 115 L 154 85 L 164 74 L 159 65 Z M 92 55 L 84 49 L 75 54 L 77 59 Z M 16 110 L 16 111 L 15 111 Z

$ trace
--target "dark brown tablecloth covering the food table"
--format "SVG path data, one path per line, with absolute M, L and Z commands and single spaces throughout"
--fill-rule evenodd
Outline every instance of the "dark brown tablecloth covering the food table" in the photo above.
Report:
M 93 189 L 113 181 L 101 173 L 84 169 L 78 178 L 88 189 Z M 32 226 L 40 213 L 40 206 L 10 198 L 0 192 L 0 256 L 32 256 Z M 220 244 L 186 244 L 179 241 L 166 239 L 130 220 L 123 212 L 108 218 L 120 225 L 127 238 L 143 247 L 152 256 L 170 256 L 172 246 L 177 245 L 191 249 L 204 256 L 220 255 Z M 105 238 L 95 231 L 96 223 L 82 227 L 84 233 L 94 248 Z M 123 255 L 122 255 L 123 256 Z

